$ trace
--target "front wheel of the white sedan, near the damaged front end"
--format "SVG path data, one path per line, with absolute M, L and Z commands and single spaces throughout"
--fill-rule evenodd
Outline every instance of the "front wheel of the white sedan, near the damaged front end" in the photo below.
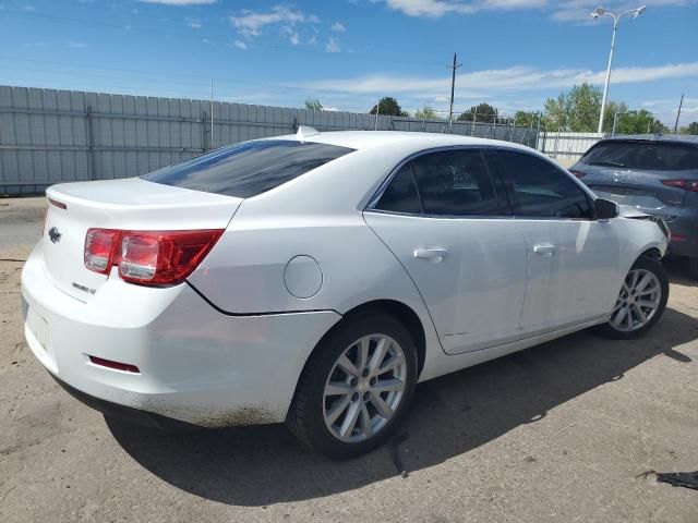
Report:
M 638 275 L 637 280 L 633 280 L 635 275 Z M 649 278 L 647 287 L 638 289 L 646 276 Z M 633 287 L 633 281 L 636 288 Z M 652 292 L 646 292 L 650 290 Z M 661 260 L 642 256 L 630 267 L 611 319 L 595 327 L 594 330 L 598 335 L 613 340 L 639 338 L 659 321 L 666 307 L 666 300 L 669 300 L 669 278 Z M 654 308 L 643 307 L 642 303 L 652 303 Z M 621 311 L 622 308 L 625 308 L 625 314 Z M 640 313 L 649 316 L 650 312 L 651 317 L 642 323 Z

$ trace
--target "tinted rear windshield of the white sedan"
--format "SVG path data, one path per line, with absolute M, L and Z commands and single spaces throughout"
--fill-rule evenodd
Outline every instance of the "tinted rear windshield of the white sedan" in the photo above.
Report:
M 141 178 L 176 187 L 249 198 L 353 150 L 291 139 L 244 142 Z

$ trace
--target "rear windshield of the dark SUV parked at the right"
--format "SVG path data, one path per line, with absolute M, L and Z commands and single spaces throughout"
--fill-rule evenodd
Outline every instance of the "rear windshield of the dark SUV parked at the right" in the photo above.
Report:
M 602 142 L 580 160 L 588 166 L 646 171 L 698 169 L 698 147 L 657 142 Z

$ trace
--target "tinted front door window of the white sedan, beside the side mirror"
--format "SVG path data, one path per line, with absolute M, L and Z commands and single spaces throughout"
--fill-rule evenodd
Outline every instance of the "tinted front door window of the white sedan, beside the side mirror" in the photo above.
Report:
M 590 198 L 569 174 L 532 155 L 498 151 L 515 216 L 592 218 Z

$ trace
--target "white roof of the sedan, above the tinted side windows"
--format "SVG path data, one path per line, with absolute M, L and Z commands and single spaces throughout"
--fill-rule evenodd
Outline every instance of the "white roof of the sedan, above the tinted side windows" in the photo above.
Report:
M 296 134 L 285 136 L 274 136 L 268 139 L 299 139 Z M 305 142 L 318 144 L 337 145 L 351 149 L 368 149 L 388 144 L 414 144 L 416 149 L 428 147 L 447 147 L 449 145 L 480 145 L 512 147 L 517 149 L 531 150 L 519 144 L 503 142 L 501 139 L 474 138 L 471 136 L 460 136 L 457 134 L 421 133 L 411 131 L 332 131 L 309 134 Z

